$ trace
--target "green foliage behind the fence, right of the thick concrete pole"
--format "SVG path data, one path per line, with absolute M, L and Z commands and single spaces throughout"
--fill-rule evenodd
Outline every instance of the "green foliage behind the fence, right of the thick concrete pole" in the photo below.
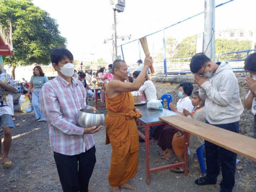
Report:
M 215 54 L 216 57 L 219 53 L 236 52 L 246 49 L 251 49 L 252 41 L 239 39 L 220 39 L 215 40 Z M 228 55 L 219 55 L 219 61 L 228 61 L 234 59 L 246 58 L 246 52 L 233 53 Z

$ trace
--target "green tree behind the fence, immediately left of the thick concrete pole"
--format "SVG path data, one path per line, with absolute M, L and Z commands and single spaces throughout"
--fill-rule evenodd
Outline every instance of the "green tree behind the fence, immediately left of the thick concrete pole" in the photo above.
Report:
M 184 38 L 177 45 L 176 58 L 190 58 L 193 55 L 195 55 L 196 41 L 197 41 L 196 35 L 192 35 Z M 183 59 L 182 61 L 190 61 L 190 59 Z

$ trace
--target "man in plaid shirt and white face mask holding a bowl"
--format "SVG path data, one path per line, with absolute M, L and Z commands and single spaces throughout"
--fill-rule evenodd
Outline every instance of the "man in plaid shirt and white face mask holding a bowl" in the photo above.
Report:
M 76 121 L 80 109 L 96 111 L 96 108 L 86 105 L 83 84 L 72 78 L 72 53 L 65 48 L 55 49 L 51 61 L 58 76 L 41 88 L 40 104 L 49 124 L 58 175 L 64 192 L 87 192 L 96 163 L 92 134 L 100 131 L 102 126 L 83 128 Z

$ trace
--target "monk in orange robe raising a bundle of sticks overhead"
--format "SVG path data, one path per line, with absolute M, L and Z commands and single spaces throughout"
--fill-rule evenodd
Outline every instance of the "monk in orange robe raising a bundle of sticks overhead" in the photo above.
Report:
M 128 183 L 137 173 L 139 136 L 135 118 L 142 116 L 139 109 L 134 107 L 131 91 L 139 90 L 143 84 L 148 68 L 153 61 L 146 55 L 144 67 L 133 82 L 128 79 L 128 67 L 120 59 L 113 62 L 111 80 L 106 87 L 106 144 L 111 143 L 111 166 L 108 181 L 113 192 L 120 188 L 136 190 L 134 184 Z

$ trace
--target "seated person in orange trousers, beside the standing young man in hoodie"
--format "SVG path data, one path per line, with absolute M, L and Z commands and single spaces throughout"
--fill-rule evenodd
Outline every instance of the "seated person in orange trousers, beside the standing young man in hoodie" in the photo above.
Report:
M 189 118 L 205 122 L 206 114 L 204 108 L 204 100 L 199 97 L 199 91 L 195 91 L 192 94 L 192 105 L 195 107 L 192 113 L 188 110 L 183 109 L 183 114 Z M 188 134 L 189 137 L 189 149 L 190 153 L 195 154 L 198 147 L 204 144 L 204 139 L 196 137 L 195 135 Z M 175 155 L 177 156 L 177 160 L 173 161 L 173 163 L 178 163 L 184 161 L 184 135 L 180 132 L 174 134 L 172 139 L 172 147 Z M 171 169 L 172 172 L 175 173 L 184 173 L 184 166 L 182 167 L 175 167 Z

